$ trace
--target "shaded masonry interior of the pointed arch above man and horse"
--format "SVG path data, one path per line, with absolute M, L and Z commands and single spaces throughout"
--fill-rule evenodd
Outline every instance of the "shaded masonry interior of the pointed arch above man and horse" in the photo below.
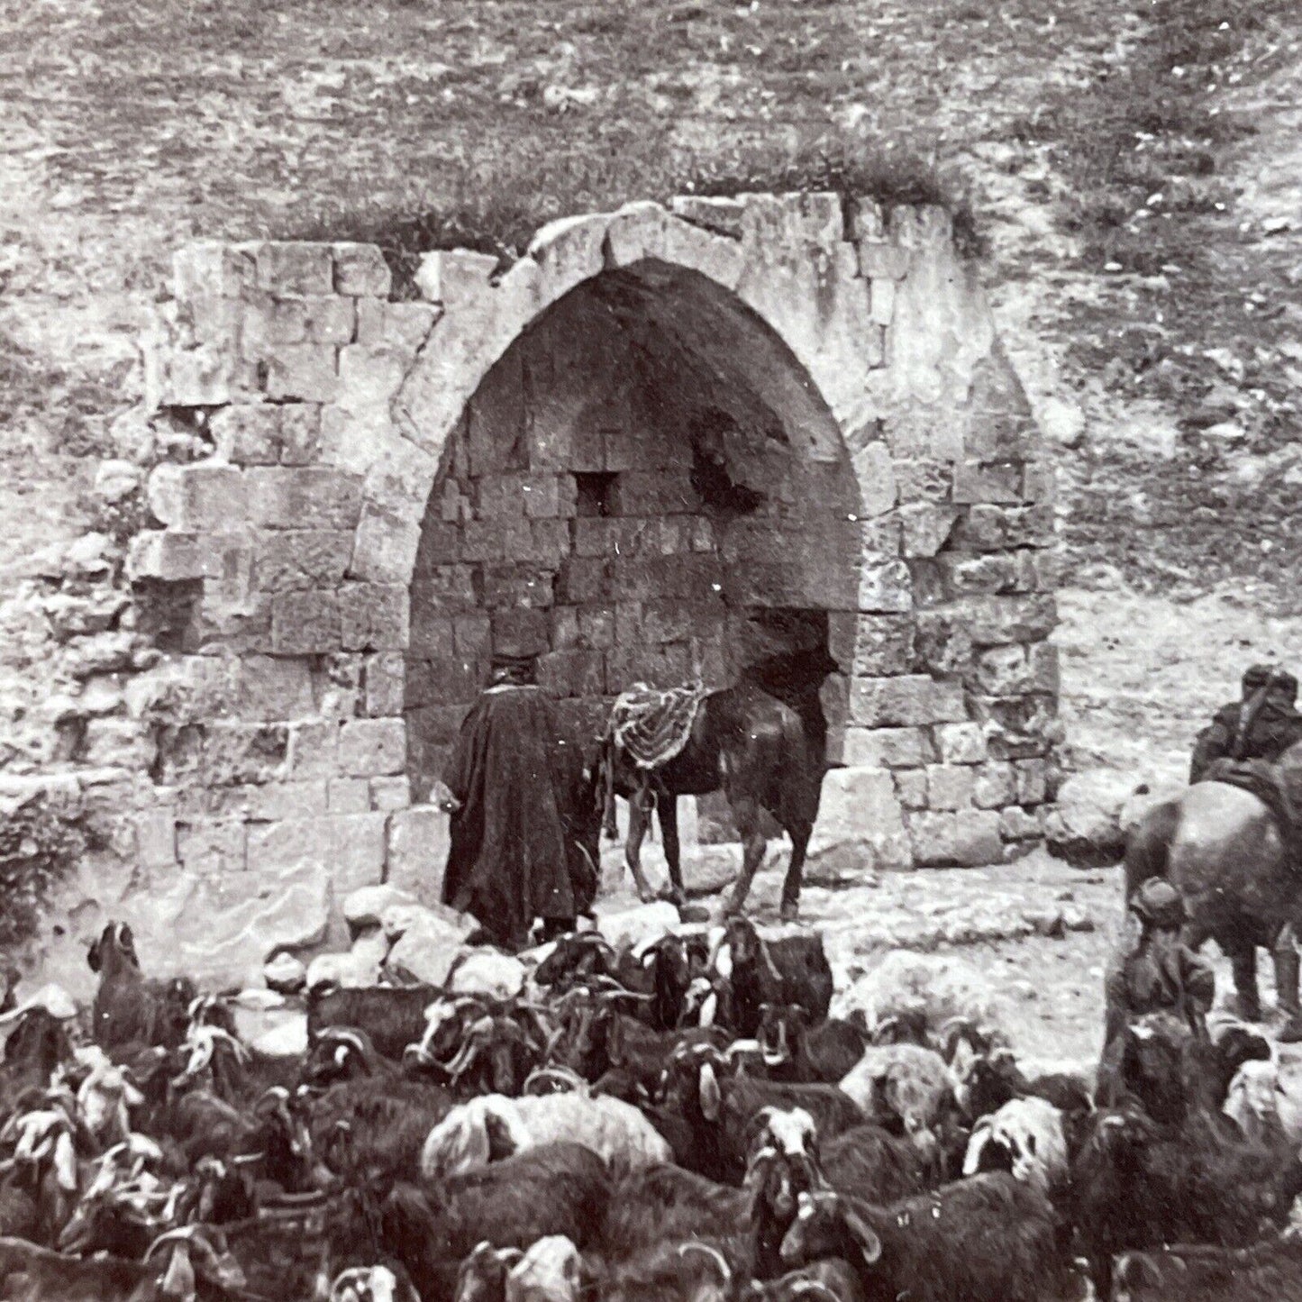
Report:
M 857 609 L 862 500 L 818 387 L 737 294 L 658 258 L 581 281 L 443 443 L 410 586 L 415 798 L 495 652 L 542 658 L 578 737 L 634 681 L 827 644 Z

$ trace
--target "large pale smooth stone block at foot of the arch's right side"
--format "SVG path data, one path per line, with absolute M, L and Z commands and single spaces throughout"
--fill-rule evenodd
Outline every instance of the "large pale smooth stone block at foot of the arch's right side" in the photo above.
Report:
M 809 850 L 809 880 L 857 878 L 907 867 L 909 841 L 891 773 L 881 768 L 833 769 Z

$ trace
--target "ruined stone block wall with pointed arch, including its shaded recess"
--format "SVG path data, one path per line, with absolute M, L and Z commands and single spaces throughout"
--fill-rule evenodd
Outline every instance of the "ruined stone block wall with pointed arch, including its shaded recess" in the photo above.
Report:
M 725 680 L 766 607 L 846 669 L 815 866 L 1035 844 L 1051 477 L 943 211 L 633 204 L 418 285 L 365 245 L 178 251 L 115 464 L 143 527 L 49 581 L 69 686 L 31 783 L 103 811 L 82 931 L 126 914 L 230 975 L 342 891 L 434 893 L 419 801 L 493 646 L 544 652 L 582 730 L 633 677 Z M 693 484 L 710 428 L 745 509 Z

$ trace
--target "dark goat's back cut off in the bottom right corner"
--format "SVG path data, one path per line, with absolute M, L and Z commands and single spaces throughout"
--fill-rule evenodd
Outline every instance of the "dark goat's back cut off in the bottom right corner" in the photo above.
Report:
M 1113 1302 L 1299 1302 L 1302 1240 L 1126 1253 L 1116 1266 L 1112 1297 Z

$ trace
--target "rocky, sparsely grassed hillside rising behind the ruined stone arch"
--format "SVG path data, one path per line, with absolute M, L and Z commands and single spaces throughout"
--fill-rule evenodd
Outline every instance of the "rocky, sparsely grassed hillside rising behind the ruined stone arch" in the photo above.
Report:
M 33 585 L 115 564 L 135 339 L 191 234 L 509 246 L 819 148 L 966 197 L 1062 484 L 1077 760 L 1177 764 L 1299 644 L 1290 0 L 94 0 L 0 14 L 0 767 L 57 758 Z M 897 163 L 907 159 L 907 163 Z M 799 160 L 794 172 L 793 160 Z M 51 555 L 96 527 L 103 547 Z M 96 618 L 111 626 L 112 609 Z

